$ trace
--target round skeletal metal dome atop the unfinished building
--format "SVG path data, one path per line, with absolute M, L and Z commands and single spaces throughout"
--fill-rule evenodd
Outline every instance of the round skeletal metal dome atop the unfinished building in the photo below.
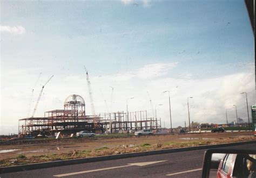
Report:
M 85 110 L 84 98 L 80 95 L 69 95 L 64 102 L 64 109 Z

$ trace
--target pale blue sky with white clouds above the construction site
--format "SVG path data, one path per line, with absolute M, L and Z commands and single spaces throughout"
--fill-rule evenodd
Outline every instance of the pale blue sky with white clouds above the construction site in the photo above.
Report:
M 177 127 L 188 123 L 187 97 L 198 123 L 226 123 L 226 109 L 228 122 L 236 120 L 234 104 L 248 120 L 241 92 L 255 103 L 244 1 L 1 1 L 0 11 L 0 134 L 18 133 L 18 119 L 32 115 L 52 75 L 35 117 L 64 109 L 72 94 L 91 115 L 83 66 L 96 113 L 126 111 L 134 97 L 129 111 L 154 117 L 157 108 L 170 127 L 169 90 Z

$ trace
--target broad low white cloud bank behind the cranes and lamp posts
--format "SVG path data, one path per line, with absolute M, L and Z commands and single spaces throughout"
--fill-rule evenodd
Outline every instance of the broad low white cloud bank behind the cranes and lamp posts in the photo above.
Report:
M 162 124 L 165 122 L 165 126 L 169 127 L 169 99 L 168 94 L 163 94 L 163 91 L 170 90 L 173 127 L 184 126 L 184 121 L 188 123 L 188 96 L 193 96 L 190 99 L 190 106 L 194 106 L 194 109 L 191 110 L 191 121 L 225 123 L 225 109 L 227 108 L 233 109 L 228 111 L 228 121 L 233 121 L 236 119 L 233 104 L 237 105 L 238 117 L 247 119 L 245 96 L 241 95 L 240 92 L 247 92 L 249 105 L 254 103 L 254 70 L 211 79 L 195 80 L 165 76 L 176 65 L 177 63 L 156 63 L 145 65 L 131 72 L 100 77 L 90 73 L 96 112 L 107 112 L 109 109 L 112 112 L 125 111 L 126 99 L 134 97 L 129 101 L 129 110 L 147 110 L 147 116 L 154 117 L 149 96 L 147 96 L 147 91 L 149 91 L 153 110 L 155 104 L 163 104 L 157 108 L 157 115 L 161 117 Z M 159 73 L 161 77 L 154 77 L 153 74 L 148 74 L 149 71 L 155 71 L 153 74 Z M 2 74 L 1 125 L 8 129 L 2 131 L 0 129 L 0 132 L 14 133 L 17 132 L 18 119 L 27 115 L 31 86 L 34 85 L 38 73 L 35 70 L 26 69 L 3 71 Z M 50 75 L 43 73 L 41 81 L 35 88 L 33 101 L 36 101 L 42 88 L 40 84 L 45 83 Z M 151 80 L 145 80 L 147 77 L 151 77 Z M 110 86 L 114 87 L 113 93 Z M 63 109 L 65 98 L 71 94 L 81 95 L 85 99 L 86 113 L 90 115 L 91 107 L 88 93 L 83 69 L 81 69 L 80 75 L 56 75 L 44 88 L 35 117 L 44 116 L 44 112 L 48 110 Z M 32 104 L 32 108 L 33 106 L 35 106 L 35 102 Z M 11 124 L 12 126 L 10 126 Z

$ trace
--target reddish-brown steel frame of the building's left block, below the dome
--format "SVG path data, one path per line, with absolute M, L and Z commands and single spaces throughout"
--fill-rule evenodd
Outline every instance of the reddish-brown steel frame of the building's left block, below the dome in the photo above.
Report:
M 74 110 L 54 110 L 45 112 L 45 117 L 19 119 L 19 134 L 36 136 L 52 135 L 55 132 L 76 133 L 87 130 L 95 132 L 93 116 L 73 117 Z M 70 116 L 67 116 L 70 115 Z

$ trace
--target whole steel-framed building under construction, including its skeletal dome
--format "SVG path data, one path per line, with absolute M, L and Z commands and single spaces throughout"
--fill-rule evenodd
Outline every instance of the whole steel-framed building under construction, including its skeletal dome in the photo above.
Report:
M 160 119 L 148 118 L 146 111 L 100 113 L 94 116 L 86 116 L 85 111 L 84 99 L 79 95 L 70 95 L 65 99 L 64 109 L 46 111 L 44 117 L 19 119 L 19 134 L 71 134 L 83 130 L 121 133 L 141 129 L 157 130 L 161 127 Z

